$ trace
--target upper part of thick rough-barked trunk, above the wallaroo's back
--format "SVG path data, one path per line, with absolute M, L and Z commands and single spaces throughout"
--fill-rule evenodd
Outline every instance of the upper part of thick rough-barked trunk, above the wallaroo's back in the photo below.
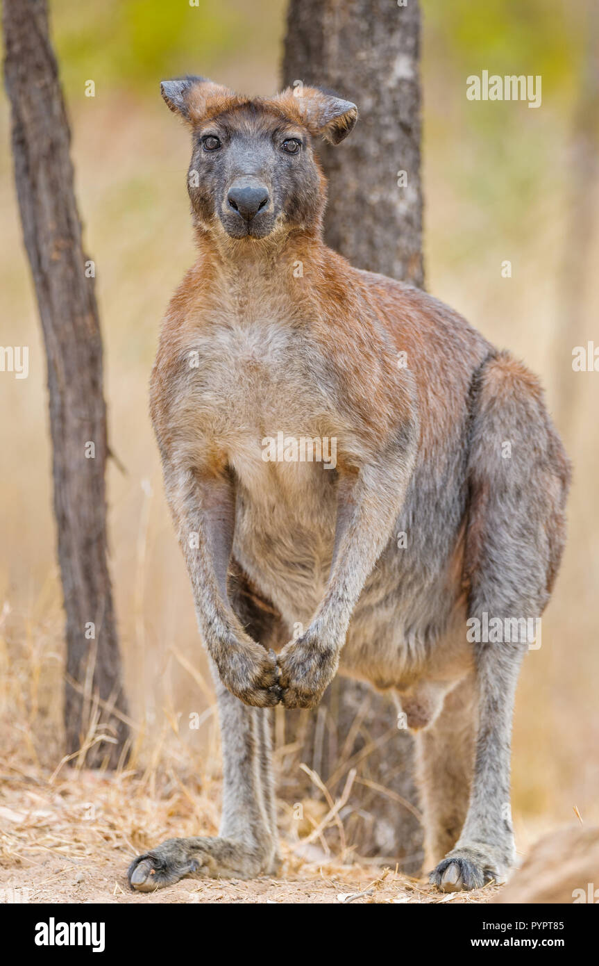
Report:
M 359 111 L 341 148 L 319 150 L 327 244 L 359 269 L 422 286 L 419 57 L 417 0 L 290 0 L 284 83 L 328 88 Z

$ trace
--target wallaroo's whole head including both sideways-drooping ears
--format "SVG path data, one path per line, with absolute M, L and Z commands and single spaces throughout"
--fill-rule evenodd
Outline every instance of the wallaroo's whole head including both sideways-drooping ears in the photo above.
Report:
M 319 226 L 325 182 L 312 140 L 339 144 L 355 104 L 312 87 L 250 99 L 204 77 L 167 80 L 161 91 L 192 130 L 188 190 L 200 227 L 263 239 Z

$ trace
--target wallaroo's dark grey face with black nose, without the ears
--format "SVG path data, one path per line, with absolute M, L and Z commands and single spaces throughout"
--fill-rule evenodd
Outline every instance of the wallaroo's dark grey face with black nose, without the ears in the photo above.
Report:
M 188 185 L 199 220 L 209 227 L 218 218 L 233 239 L 306 227 L 321 204 L 308 132 L 252 105 L 196 129 Z

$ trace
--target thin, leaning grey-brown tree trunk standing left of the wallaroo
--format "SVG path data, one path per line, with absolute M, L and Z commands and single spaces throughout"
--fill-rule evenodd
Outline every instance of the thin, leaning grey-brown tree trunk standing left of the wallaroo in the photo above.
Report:
M 41 315 L 54 510 L 67 617 L 68 753 L 125 757 L 128 727 L 107 565 L 106 410 L 93 263 L 81 243 L 70 131 L 45 0 L 5 0 L 5 77 L 14 179 Z M 87 266 L 87 268 L 86 268 Z M 100 735 L 107 736 L 97 740 Z

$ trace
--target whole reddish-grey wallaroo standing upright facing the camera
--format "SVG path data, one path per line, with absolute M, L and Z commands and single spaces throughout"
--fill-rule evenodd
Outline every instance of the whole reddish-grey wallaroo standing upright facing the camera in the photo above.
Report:
M 545 608 L 569 465 L 520 362 L 325 246 L 313 139 L 338 144 L 358 112 L 299 94 L 162 84 L 191 128 L 199 255 L 162 326 L 151 416 L 214 674 L 223 814 L 218 837 L 157 844 L 129 881 L 276 873 L 267 709 L 313 708 L 340 670 L 395 692 L 416 732 L 431 882 L 472 889 L 514 862 L 529 641 L 469 640 L 467 621 Z M 262 459 L 279 433 L 337 440 L 335 468 Z

